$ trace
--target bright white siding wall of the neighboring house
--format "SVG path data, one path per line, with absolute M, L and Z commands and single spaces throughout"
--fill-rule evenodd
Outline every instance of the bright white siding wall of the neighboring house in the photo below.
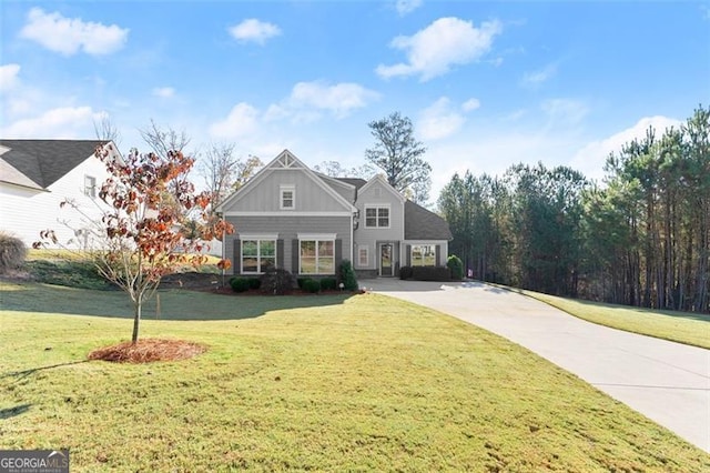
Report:
M 90 220 L 100 222 L 103 202 L 98 197 L 92 199 L 84 195 L 85 175 L 95 178 L 98 195 L 109 173 L 94 157 L 88 158 L 50 185 L 49 192 L 0 182 L 0 230 L 20 238 L 30 248 L 40 239 L 41 231 L 51 229 L 62 244 L 74 240 L 68 246 L 81 248 L 74 230 L 89 228 L 91 223 L 70 205 L 60 208 L 60 203 L 73 199 Z M 52 244 L 49 246 L 57 248 Z

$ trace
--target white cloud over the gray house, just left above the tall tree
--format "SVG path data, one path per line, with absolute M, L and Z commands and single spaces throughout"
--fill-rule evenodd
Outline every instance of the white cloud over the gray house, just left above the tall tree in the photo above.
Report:
M 334 85 L 323 81 L 298 82 L 287 99 L 287 108 L 296 111 L 324 110 L 336 118 L 347 117 L 353 110 L 366 107 L 379 94 L 353 82 Z

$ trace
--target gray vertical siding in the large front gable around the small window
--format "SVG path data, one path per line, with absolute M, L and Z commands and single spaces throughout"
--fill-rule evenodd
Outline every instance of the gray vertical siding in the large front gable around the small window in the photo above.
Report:
M 282 187 L 293 187 L 295 191 L 294 212 L 343 212 L 347 209 L 336 201 L 325 189 L 316 185 L 313 178 L 300 169 L 273 169 L 256 185 L 245 189 L 239 197 L 237 205 L 225 208 L 240 212 L 280 212 Z M 315 178 L 318 179 L 318 178 Z M 323 184 L 327 185 L 327 184 Z

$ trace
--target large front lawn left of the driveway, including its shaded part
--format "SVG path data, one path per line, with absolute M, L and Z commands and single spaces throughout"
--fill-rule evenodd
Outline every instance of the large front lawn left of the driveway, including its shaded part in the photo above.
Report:
M 710 469 L 523 348 L 395 299 L 163 292 L 143 335 L 206 353 L 87 362 L 129 338 L 123 298 L 0 282 L 2 447 L 68 447 L 92 472 Z

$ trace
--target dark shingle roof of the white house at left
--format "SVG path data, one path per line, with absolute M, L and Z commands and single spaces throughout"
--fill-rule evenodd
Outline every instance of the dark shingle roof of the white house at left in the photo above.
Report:
M 28 185 L 18 172 L 47 189 L 93 154 L 100 140 L 0 140 L 10 150 L 0 155 L 0 181 Z M 16 171 L 13 172 L 12 169 Z

